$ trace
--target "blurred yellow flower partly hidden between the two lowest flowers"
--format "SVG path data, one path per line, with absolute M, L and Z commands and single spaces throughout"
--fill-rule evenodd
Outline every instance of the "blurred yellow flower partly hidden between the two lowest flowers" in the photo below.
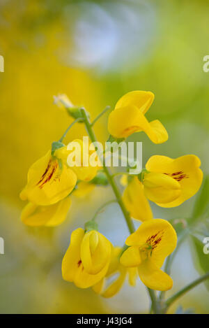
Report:
M 136 268 L 125 268 L 120 263 L 119 255 L 121 253 L 121 248 L 115 247 L 111 253 L 111 262 L 109 264 L 109 269 L 104 278 L 102 278 L 99 283 L 94 285 L 92 289 L 97 294 L 102 295 L 102 297 L 113 297 L 116 293 L 121 290 L 123 283 L 125 282 L 125 278 L 128 275 L 129 283 L 131 286 L 136 284 L 137 278 L 137 269 Z M 109 280 L 112 280 L 109 283 Z M 109 284 L 108 284 L 109 283 Z

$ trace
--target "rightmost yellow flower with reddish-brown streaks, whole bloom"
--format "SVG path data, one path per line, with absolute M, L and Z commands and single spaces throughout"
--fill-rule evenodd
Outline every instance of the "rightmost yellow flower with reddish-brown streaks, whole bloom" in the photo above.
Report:
M 144 192 L 146 196 L 162 207 L 182 204 L 194 196 L 201 187 L 203 172 L 201 161 L 195 155 L 172 159 L 155 155 L 146 163 Z M 157 182 L 158 181 L 158 185 Z

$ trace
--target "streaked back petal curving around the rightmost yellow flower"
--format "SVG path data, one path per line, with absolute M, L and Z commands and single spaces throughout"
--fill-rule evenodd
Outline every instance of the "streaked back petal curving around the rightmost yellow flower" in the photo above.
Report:
M 151 172 L 164 173 L 178 181 L 181 193 L 177 199 L 166 204 L 159 202 L 162 207 L 179 206 L 198 192 L 203 180 L 203 172 L 199 169 L 201 162 L 195 155 L 185 155 L 176 159 L 155 155 L 150 157 L 146 169 Z

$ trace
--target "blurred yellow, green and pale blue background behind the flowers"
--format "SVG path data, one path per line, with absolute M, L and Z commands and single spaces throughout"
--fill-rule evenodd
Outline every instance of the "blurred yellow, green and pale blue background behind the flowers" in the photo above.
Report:
M 74 197 L 68 219 L 56 229 L 24 226 L 19 193 L 29 166 L 70 123 L 53 104 L 58 93 L 68 94 L 95 117 L 105 106 L 113 108 L 125 92 L 154 92 L 147 116 L 162 121 L 169 141 L 154 145 L 145 134 L 134 134 L 134 140 L 143 141 L 144 164 L 155 154 L 192 153 L 200 157 L 204 174 L 209 173 L 209 73 L 203 72 L 203 57 L 209 54 L 208 15 L 208 0 L 1 0 L 1 313 L 147 313 L 148 295 L 140 281 L 102 299 L 61 277 L 72 229 L 112 198 L 108 187 L 85 199 Z M 107 115 L 95 131 L 101 141 L 107 140 Z M 78 124 L 68 141 L 83 134 Z M 155 218 L 189 218 L 194 201 L 170 210 L 153 205 Z M 114 245 L 123 245 L 128 231 L 117 206 L 100 214 L 100 231 Z M 193 246 L 189 238 L 181 246 L 168 295 L 201 273 Z M 209 255 L 204 260 L 207 264 Z M 196 287 L 170 312 L 179 305 L 209 313 L 206 286 Z

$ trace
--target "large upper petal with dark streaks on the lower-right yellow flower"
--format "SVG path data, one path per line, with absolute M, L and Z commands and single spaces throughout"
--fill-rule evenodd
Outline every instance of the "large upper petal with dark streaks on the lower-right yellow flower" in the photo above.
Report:
M 176 248 L 176 231 L 167 220 L 153 219 L 143 222 L 141 226 L 127 237 L 125 243 L 130 246 L 144 247 L 151 245 L 151 259 L 157 267 L 161 267 L 164 259 Z

